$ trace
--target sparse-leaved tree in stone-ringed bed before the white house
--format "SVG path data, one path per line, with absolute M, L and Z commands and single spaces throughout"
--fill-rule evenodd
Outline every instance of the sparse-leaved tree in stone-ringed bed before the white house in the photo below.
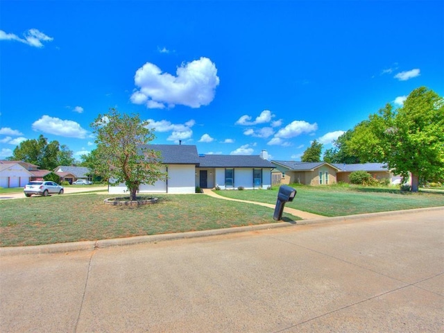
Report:
M 95 172 L 112 180 L 111 185 L 125 183 L 130 200 L 136 200 L 139 185 L 154 185 L 166 178 L 160 171 L 160 152 L 148 148 L 148 142 L 155 138 L 153 130 L 146 128 L 148 123 L 138 114 L 120 114 L 112 108 L 91 124 L 97 144 Z

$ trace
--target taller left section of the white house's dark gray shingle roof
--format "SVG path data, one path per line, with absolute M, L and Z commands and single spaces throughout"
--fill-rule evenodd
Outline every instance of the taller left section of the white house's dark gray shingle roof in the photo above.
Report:
M 187 144 L 147 144 L 148 149 L 160 151 L 164 164 L 198 164 L 199 156 L 194 145 Z

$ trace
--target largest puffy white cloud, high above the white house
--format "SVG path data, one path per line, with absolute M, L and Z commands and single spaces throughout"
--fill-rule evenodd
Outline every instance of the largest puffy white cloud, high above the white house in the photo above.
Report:
M 162 73 L 151 62 L 137 69 L 134 82 L 138 90 L 130 97 L 135 104 L 146 103 L 147 108 L 170 108 L 174 105 L 187 105 L 200 108 L 214 99 L 219 77 L 214 63 L 205 57 L 182 63 L 176 76 Z

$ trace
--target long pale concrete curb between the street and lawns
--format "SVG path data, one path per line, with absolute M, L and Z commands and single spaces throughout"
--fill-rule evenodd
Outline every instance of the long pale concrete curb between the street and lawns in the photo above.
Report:
M 118 238 L 118 239 L 103 239 L 100 241 L 76 241 L 72 243 L 62 243 L 62 244 L 12 246 L 12 247 L 0 248 L 0 257 L 10 256 L 10 255 L 40 255 L 47 253 L 69 253 L 74 251 L 85 251 L 85 250 L 92 251 L 98 248 L 109 248 L 111 246 L 149 244 L 149 243 L 157 243 L 158 241 L 173 241 L 177 239 L 209 237 L 221 234 L 233 234 L 237 232 L 267 230 L 267 229 L 284 228 L 284 227 L 307 225 L 307 224 L 324 224 L 324 223 L 344 222 L 357 219 L 365 220 L 365 219 L 373 219 L 375 217 L 411 214 L 414 212 L 431 212 L 435 210 L 436 211 L 444 210 L 444 207 L 428 207 L 428 208 L 418 208 L 414 210 L 398 210 L 391 212 L 378 212 L 378 213 L 357 214 L 357 215 L 348 215 L 348 216 L 325 217 L 321 219 L 300 220 L 297 221 L 296 223 L 277 222 L 277 223 L 268 223 L 260 225 L 247 225 L 243 227 L 224 228 L 224 229 L 180 232 L 176 234 L 153 234 L 148 236 L 135 236 L 135 237 Z

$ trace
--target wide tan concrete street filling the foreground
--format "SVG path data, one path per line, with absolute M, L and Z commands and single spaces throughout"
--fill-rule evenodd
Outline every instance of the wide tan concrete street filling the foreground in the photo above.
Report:
M 3 255 L 0 332 L 443 332 L 443 216 Z

